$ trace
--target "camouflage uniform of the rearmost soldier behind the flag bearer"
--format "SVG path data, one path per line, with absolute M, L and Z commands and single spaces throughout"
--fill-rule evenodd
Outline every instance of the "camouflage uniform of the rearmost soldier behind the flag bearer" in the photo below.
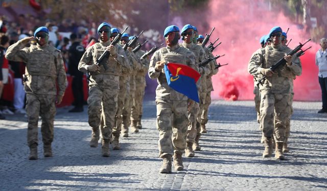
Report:
M 214 58 L 213 53 L 207 48 L 204 47 L 204 52 L 206 57 L 209 58 Z M 201 121 L 200 124 L 201 126 L 205 127 L 205 124 L 208 122 L 208 110 L 209 110 L 209 105 L 211 104 L 211 92 L 214 91 L 213 87 L 213 81 L 212 81 L 212 76 L 218 73 L 218 69 L 215 69 L 217 66 L 216 60 L 213 60 L 211 63 L 208 64 L 208 66 L 211 69 L 211 73 L 206 76 L 206 91 L 205 91 L 205 101 L 203 105 L 203 110 L 201 112 Z

